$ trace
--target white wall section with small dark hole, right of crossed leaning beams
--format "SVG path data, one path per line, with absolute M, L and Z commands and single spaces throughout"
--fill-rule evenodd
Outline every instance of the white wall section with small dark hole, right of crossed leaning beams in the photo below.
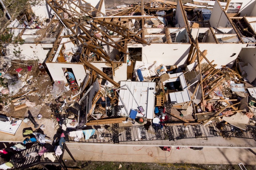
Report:
M 235 43 L 226 43 L 226 44 L 207 44 L 199 43 L 200 51 L 207 50 L 206 58 L 211 62 L 214 60 L 213 64 L 217 64 L 217 67 L 222 65 L 227 65 L 232 67 L 234 61 L 238 57 L 242 47 L 246 47 L 246 44 L 235 44 Z M 232 56 L 233 53 L 236 55 Z M 206 63 L 205 60 L 202 63 Z

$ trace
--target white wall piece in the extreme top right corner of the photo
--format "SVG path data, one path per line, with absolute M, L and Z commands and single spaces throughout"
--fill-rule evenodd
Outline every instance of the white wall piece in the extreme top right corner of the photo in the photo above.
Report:
M 239 13 L 240 13 L 240 17 L 243 17 L 246 14 L 247 16 L 250 16 L 256 4 L 256 0 L 231 0 L 230 4 L 231 3 L 242 3 Z

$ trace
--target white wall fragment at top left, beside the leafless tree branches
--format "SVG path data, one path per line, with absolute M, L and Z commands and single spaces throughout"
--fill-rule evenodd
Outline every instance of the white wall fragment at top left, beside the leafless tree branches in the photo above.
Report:
M 55 14 L 55 12 L 52 10 L 52 8 L 46 3 L 45 0 L 40 0 L 41 3 L 38 6 L 32 6 L 32 10 L 36 17 L 39 17 L 41 19 L 43 18 L 51 18 L 52 14 Z

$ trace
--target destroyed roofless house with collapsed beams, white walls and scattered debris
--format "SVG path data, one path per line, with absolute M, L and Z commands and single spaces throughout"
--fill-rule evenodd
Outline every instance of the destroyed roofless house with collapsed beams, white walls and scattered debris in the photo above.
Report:
M 30 21 L 9 25 L 24 44 L 19 56 L 3 45 L 10 76 L 1 92 L 16 90 L 10 106 L 25 115 L 30 95 L 44 98 L 46 117 L 71 143 L 255 147 L 256 0 L 205 4 L 150 0 L 113 10 L 104 0 L 42 1 Z M 28 60 L 49 74 L 44 90 L 28 86 L 37 78 L 21 66 Z M 15 132 L 27 126 L 18 123 Z

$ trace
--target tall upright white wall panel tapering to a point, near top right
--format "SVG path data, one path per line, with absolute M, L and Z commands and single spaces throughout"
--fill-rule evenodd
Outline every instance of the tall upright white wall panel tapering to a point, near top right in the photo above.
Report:
M 211 27 L 232 27 L 230 24 L 223 8 L 220 6 L 220 4 L 215 1 L 212 14 L 210 17 L 210 25 Z M 228 26 L 226 26 L 228 25 Z

